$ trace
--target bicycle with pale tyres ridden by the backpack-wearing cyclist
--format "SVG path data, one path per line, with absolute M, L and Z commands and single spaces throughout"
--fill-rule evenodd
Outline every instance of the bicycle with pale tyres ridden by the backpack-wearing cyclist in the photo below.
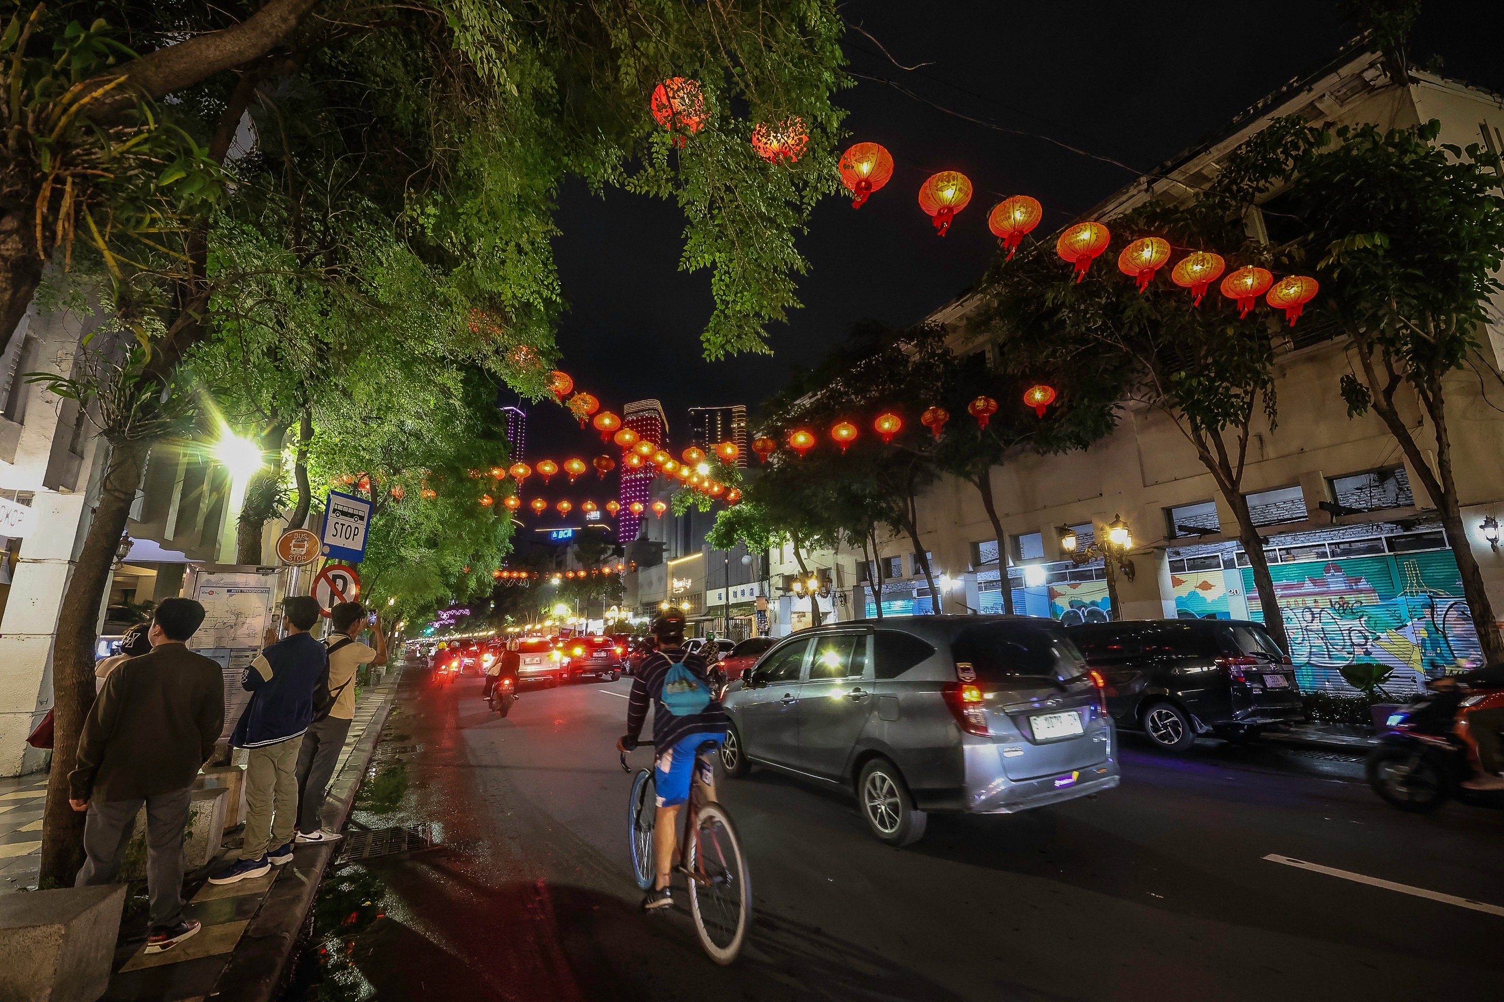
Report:
M 651 741 L 638 744 L 653 745 Z M 707 747 L 714 748 L 714 744 L 707 741 L 695 750 L 695 757 Z M 626 753 L 621 753 L 621 771 L 632 772 Z M 632 844 L 633 876 L 644 891 L 657 877 L 653 858 L 653 828 L 657 822 L 654 792 L 653 769 L 638 769 L 627 799 L 627 838 Z M 726 808 L 701 798 L 699 783 L 692 781 L 674 871 L 687 879 L 689 910 L 695 918 L 699 945 L 717 964 L 729 964 L 741 952 L 752 922 L 752 874 Z

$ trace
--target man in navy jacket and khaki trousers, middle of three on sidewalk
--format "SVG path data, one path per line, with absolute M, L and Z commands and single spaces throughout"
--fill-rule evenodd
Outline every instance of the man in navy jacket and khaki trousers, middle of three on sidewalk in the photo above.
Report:
M 314 640 L 319 599 L 295 595 L 283 602 L 287 635 L 268 644 L 241 676 L 251 694 L 230 744 L 250 751 L 245 769 L 245 841 L 230 865 L 209 883 L 235 883 L 292 862 L 298 825 L 298 750 L 313 723 L 313 690 L 329 664 Z M 275 846 L 268 852 L 268 847 Z

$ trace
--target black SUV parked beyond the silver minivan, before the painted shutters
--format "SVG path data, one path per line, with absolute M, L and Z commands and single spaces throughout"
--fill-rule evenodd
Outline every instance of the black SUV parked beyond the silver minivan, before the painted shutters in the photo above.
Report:
M 1101 672 L 1117 724 L 1169 751 L 1185 751 L 1208 732 L 1251 741 L 1268 724 L 1305 715 L 1295 669 L 1263 623 L 1130 619 L 1066 632 Z

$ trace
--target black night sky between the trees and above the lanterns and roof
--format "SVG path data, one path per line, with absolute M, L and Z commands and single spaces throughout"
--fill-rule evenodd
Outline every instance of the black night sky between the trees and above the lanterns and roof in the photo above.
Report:
M 1504 90 L 1499 33 L 1480 23 L 1495 3 L 1427 3 L 1412 62 L 1424 65 L 1439 53 L 1447 77 Z M 755 407 L 793 367 L 818 361 L 853 321 L 874 317 L 904 326 L 964 291 L 997 246 L 987 212 L 1000 198 L 1039 198 L 1041 231 L 1053 230 L 1292 77 L 1321 68 L 1355 35 L 1333 0 L 851 2 L 842 12 L 856 78 L 856 87 L 836 98 L 850 110 L 842 146 L 881 143 L 896 170 L 860 210 L 842 198 L 815 210 L 800 240 L 811 263 L 800 281 L 805 308 L 772 330 L 775 355 L 701 358 L 710 276 L 678 270 L 677 206 L 620 191 L 597 198 L 582 183 L 561 192 L 555 252 L 570 303 L 558 333 L 562 368 L 617 413 L 630 400 L 662 400 L 675 452 L 684 445 L 687 407 Z M 923 66 L 899 69 L 857 27 L 898 63 Z M 970 206 L 943 239 L 916 203 L 920 182 L 938 170 L 960 170 L 975 185 Z M 529 463 L 544 455 L 588 461 L 600 452 L 600 440 L 579 431 L 562 409 L 547 401 L 525 409 Z M 615 488 L 614 476 L 605 485 L 593 475 L 588 481 L 594 490 L 579 490 L 582 482 L 561 491 L 561 476 L 546 494 L 596 496 L 600 503 Z

